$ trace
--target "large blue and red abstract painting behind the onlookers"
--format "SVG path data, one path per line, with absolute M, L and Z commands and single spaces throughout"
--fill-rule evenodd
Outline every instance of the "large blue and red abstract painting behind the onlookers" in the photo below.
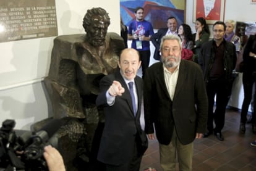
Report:
M 134 10 L 143 7 L 144 19 L 153 25 L 154 29 L 167 27 L 169 17 L 175 17 L 178 25 L 185 22 L 186 0 L 120 0 L 121 19 L 125 25 L 135 20 Z

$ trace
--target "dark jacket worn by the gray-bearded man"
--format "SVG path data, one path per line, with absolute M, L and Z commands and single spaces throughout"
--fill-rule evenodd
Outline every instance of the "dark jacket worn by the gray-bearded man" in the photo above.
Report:
M 174 125 L 179 141 L 189 144 L 195 133 L 207 130 L 208 99 L 200 66 L 181 60 L 173 101 L 164 81 L 163 63 L 148 68 L 144 78 L 145 132 L 154 133 L 159 143 L 169 144 Z

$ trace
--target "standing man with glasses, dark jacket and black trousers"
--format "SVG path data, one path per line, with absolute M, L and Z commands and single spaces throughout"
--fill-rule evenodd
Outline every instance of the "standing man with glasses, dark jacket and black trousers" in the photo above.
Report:
M 224 127 L 226 106 L 228 104 L 229 91 L 233 83 L 233 70 L 236 66 L 236 47 L 233 43 L 224 40 L 226 30 L 224 22 L 215 22 L 213 25 L 213 40 L 203 44 L 198 56 L 198 64 L 201 65 L 208 95 L 208 132 L 218 140 L 223 141 L 221 130 Z M 213 105 L 216 95 L 216 109 Z M 213 120 L 215 128 L 213 128 Z

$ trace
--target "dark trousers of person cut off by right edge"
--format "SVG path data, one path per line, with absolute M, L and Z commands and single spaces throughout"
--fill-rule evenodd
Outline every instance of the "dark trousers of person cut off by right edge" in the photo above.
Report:
M 250 105 L 250 101 L 252 100 L 252 86 L 255 83 L 256 88 L 256 72 L 244 72 L 242 75 L 242 84 L 244 86 L 244 101 L 242 102 L 242 111 L 241 111 L 241 122 L 247 122 L 247 112 Z M 256 91 L 255 91 L 256 92 Z M 254 99 L 256 98 L 256 93 L 254 93 Z M 254 102 L 254 110 L 255 108 Z M 252 112 L 252 123 L 256 124 L 256 116 L 255 111 Z

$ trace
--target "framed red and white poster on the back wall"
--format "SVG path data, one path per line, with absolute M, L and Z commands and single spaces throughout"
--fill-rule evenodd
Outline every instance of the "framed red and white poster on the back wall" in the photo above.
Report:
M 208 24 L 224 21 L 225 0 L 194 0 L 193 22 L 203 17 Z

